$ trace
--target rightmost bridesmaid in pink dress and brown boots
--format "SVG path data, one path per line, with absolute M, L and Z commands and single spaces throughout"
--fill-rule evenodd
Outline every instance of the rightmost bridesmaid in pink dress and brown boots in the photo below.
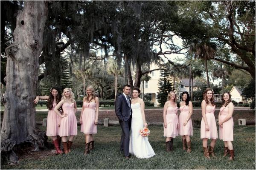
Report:
M 234 105 L 231 102 L 231 95 L 229 92 L 224 92 L 221 97 L 222 107 L 220 109 L 220 113 L 218 115 L 218 125 L 219 125 L 219 133 L 220 139 L 224 141 L 224 155 L 227 156 L 228 151 L 230 153 L 230 160 L 233 160 L 235 157 L 234 149 L 233 149 L 233 111 Z

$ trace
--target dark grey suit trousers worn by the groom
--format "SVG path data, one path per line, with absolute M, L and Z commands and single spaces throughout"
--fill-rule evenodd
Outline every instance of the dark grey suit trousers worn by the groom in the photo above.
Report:
M 124 151 L 124 156 L 130 156 L 129 144 L 130 144 L 131 117 L 127 121 L 119 120 L 119 124 L 122 128 L 120 150 Z

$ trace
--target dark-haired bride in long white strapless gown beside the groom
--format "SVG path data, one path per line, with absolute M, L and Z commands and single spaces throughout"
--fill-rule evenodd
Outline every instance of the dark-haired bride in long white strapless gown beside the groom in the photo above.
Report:
M 155 155 L 153 148 L 148 142 L 147 137 L 140 135 L 140 129 L 147 127 L 145 120 L 143 99 L 140 99 L 140 89 L 134 88 L 132 91 L 134 99 L 131 100 L 132 118 L 131 118 L 131 136 L 129 152 L 137 158 L 150 158 Z

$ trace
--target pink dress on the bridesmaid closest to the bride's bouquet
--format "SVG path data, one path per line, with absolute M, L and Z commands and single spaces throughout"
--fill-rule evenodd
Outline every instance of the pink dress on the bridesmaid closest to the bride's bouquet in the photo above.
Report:
M 177 113 L 178 107 L 168 107 L 166 112 L 166 124 L 167 127 L 163 127 L 163 136 L 175 138 L 178 136 L 177 124 L 178 118 Z

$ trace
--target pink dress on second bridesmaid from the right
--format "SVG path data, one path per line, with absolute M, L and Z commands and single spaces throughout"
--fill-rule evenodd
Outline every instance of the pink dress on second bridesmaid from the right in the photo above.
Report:
M 209 125 L 209 131 L 205 130 L 205 122 L 202 118 L 201 121 L 201 139 L 208 138 L 208 139 L 217 139 L 218 138 L 218 132 L 217 132 L 217 126 L 216 126 L 216 120 L 214 116 L 215 106 L 207 105 L 206 106 L 206 119 Z

